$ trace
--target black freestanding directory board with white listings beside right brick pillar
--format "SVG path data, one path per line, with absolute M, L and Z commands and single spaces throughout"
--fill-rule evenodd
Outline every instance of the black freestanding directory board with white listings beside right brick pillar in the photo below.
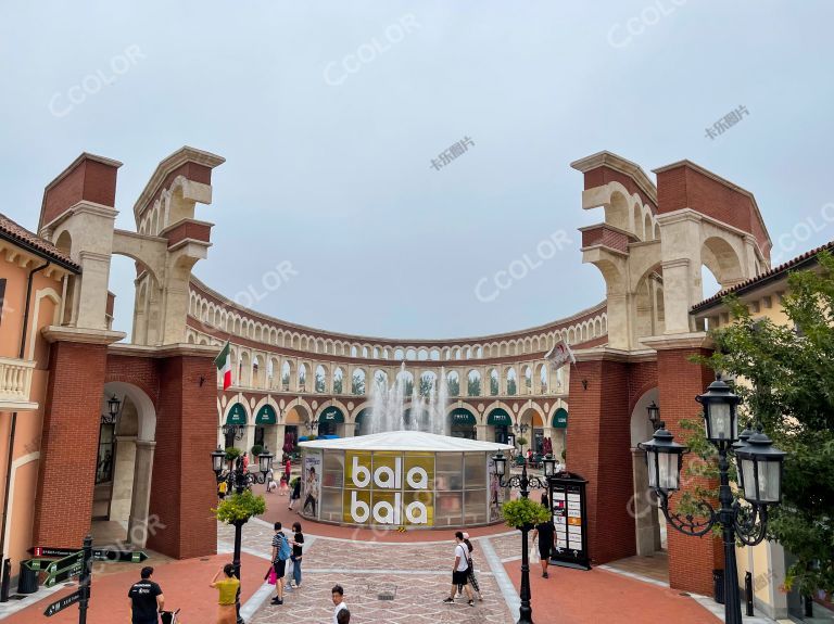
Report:
M 591 570 L 585 509 L 587 481 L 578 474 L 560 472 L 551 477 L 549 485 L 553 524 L 556 527 L 556 548 L 551 555 L 551 563 Z

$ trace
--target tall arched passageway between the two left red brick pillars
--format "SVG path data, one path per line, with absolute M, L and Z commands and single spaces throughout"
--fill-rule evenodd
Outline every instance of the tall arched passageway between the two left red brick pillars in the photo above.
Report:
M 104 384 L 92 505 L 96 545 L 132 544 L 142 548 L 156 446 L 156 410 L 138 386 Z

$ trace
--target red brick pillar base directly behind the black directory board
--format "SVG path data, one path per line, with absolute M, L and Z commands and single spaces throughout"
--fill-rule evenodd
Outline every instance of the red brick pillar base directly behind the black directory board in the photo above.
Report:
M 581 361 L 571 371 L 567 466 L 589 482 L 589 549 L 596 564 L 636 552 L 628 512 L 634 489 L 628 406 L 628 364 Z

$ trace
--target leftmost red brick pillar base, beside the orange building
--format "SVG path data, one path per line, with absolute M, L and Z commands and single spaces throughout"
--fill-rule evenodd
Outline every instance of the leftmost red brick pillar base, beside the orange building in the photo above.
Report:
M 33 532 L 39 545 L 79 547 L 90 530 L 105 364 L 105 346 L 52 345 Z

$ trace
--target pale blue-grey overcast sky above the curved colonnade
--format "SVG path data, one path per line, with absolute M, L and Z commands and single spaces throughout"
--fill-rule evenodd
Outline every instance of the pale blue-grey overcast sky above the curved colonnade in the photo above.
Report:
M 538 326 L 605 297 L 577 231 L 602 215 L 570 168 L 601 150 L 748 189 L 782 262 L 834 239 L 833 17 L 823 0 L 7 0 L 0 212 L 35 229 L 86 151 L 124 163 L 116 226 L 135 230 L 156 164 L 191 145 L 226 158 L 194 275 L 230 298 L 388 338 Z M 134 275 L 114 259 L 123 331 Z

